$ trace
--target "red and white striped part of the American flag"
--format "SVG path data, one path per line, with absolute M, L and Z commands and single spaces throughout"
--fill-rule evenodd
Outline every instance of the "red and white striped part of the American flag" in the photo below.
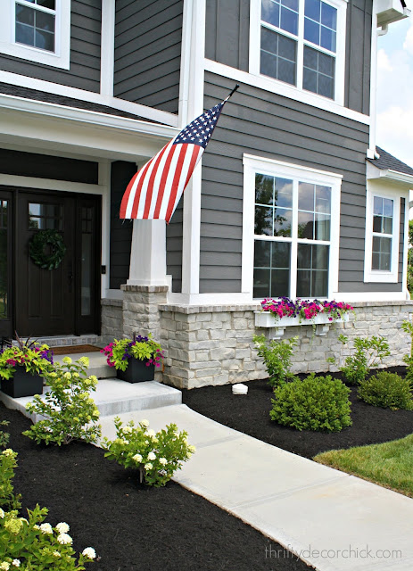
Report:
M 203 153 L 202 146 L 174 145 L 175 140 L 133 176 L 120 205 L 121 219 L 161 219 L 169 224 Z

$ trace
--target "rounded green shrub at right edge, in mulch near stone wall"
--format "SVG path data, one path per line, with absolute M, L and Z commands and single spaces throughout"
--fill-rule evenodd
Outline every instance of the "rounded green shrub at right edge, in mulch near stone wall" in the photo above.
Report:
M 409 379 L 381 371 L 359 386 L 362 401 L 383 409 L 413 410 L 413 394 Z

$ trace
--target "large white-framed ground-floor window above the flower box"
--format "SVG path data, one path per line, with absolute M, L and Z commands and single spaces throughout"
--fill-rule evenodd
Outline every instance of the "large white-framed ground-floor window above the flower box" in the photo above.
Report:
M 340 186 L 339 175 L 244 155 L 243 280 L 252 276 L 254 298 L 337 291 Z

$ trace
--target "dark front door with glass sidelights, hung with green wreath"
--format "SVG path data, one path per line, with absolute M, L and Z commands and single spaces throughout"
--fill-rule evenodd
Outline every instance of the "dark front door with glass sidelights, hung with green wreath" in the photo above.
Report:
M 12 330 L 35 337 L 99 333 L 100 197 L 19 189 L 3 194 L 14 211 L 7 264 L 14 281 L 8 290 Z M 34 236 L 45 236 L 43 230 L 62 236 L 65 247 L 53 269 L 40 267 L 30 255 L 29 244 Z M 54 251 L 45 244 L 42 253 L 47 258 Z M 0 280 L 0 311 L 1 290 Z

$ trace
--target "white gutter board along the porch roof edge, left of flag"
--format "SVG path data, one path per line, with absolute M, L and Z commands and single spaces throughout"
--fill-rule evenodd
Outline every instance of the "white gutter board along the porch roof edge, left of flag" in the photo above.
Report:
M 59 105 L 57 103 L 26 99 L 24 97 L 16 97 L 15 95 L 0 94 L 0 108 L 37 113 L 59 119 L 77 120 L 92 123 L 93 125 L 103 125 L 104 127 L 138 131 L 139 133 L 145 133 L 145 135 L 151 135 L 153 137 L 172 138 L 178 135 L 178 128 L 170 127 L 169 125 L 159 125 L 144 120 L 128 119 L 128 117 L 119 117 L 117 115 Z

